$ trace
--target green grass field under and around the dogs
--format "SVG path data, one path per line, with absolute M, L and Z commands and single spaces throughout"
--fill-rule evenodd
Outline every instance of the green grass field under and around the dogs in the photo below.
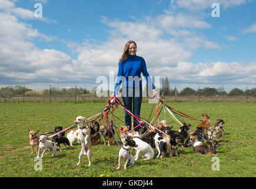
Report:
M 34 158 L 28 141 L 28 128 L 40 129 L 40 133 L 51 132 L 57 125 L 67 128 L 73 125 L 76 116 L 89 117 L 99 113 L 106 102 L 87 103 L 0 103 L 0 177 L 256 177 L 256 103 L 245 102 L 166 102 L 176 110 L 201 119 L 208 113 L 212 123 L 216 118 L 225 120 L 226 142 L 219 141 L 217 152 L 219 171 L 212 170 L 212 157 L 196 155 L 193 148 L 178 148 L 179 157 L 164 157 L 135 162 L 135 166 L 116 170 L 118 166 L 118 145 L 93 146 L 92 165 L 88 167 L 87 157 L 79 166 L 80 145 L 72 149 L 57 151 L 57 157 L 46 152 L 43 171 L 35 171 Z M 152 104 L 142 103 L 141 116 L 148 119 Z M 121 109 L 115 115 L 124 119 Z M 160 119 L 164 118 L 161 113 Z M 166 114 L 168 125 L 178 130 L 179 124 Z M 185 119 L 195 131 L 196 122 Z M 124 125 L 115 119 L 116 125 Z M 118 137 L 116 137 L 118 138 Z M 119 141 L 120 142 L 120 141 Z M 62 145 L 63 146 L 63 145 Z

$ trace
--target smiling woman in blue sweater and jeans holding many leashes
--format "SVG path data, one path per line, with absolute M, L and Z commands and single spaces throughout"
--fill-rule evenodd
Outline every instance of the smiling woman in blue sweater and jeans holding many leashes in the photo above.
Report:
M 141 73 L 146 77 L 148 86 L 152 89 L 153 96 L 157 92 L 151 82 L 144 58 L 137 56 L 136 53 L 137 44 L 134 41 L 128 41 L 125 44 L 124 53 L 119 60 L 118 77 L 112 96 L 117 96 L 122 83 L 122 100 L 124 101 L 124 106 L 135 115 L 140 116 L 142 102 Z M 139 124 L 138 120 L 134 119 L 134 127 Z M 127 112 L 125 112 L 125 126 L 129 126 L 129 130 L 131 130 L 131 116 Z M 139 129 L 140 127 L 137 127 L 134 131 L 138 131 Z

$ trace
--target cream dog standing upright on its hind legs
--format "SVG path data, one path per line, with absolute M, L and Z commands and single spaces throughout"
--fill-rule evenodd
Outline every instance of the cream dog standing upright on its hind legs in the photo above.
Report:
M 86 118 L 83 116 L 78 116 L 74 123 L 77 124 L 78 127 L 78 137 L 80 138 L 80 142 L 82 145 L 82 149 L 79 154 L 79 161 L 76 165 L 80 165 L 81 159 L 84 155 L 87 155 L 90 166 L 90 158 L 92 156 L 92 142 L 90 140 L 90 126 L 86 124 Z

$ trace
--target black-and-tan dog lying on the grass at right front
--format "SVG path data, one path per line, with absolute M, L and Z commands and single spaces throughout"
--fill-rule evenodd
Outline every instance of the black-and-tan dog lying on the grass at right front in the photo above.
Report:
M 196 154 L 206 154 L 216 156 L 216 148 L 219 146 L 218 141 L 213 140 L 212 142 L 207 142 L 204 145 L 197 145 L 193 148 Z

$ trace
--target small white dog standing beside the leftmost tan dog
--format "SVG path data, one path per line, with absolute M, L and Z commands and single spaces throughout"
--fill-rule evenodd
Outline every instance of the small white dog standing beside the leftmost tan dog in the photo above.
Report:
M 41 151 L 43 151 L 41 158 L 44 157 L 44 153 L 46 152 L 46 150 L 48 149 L 53 155 L 55 154 L 57 157 L 57 145 L 55 144 L 55 142 L 49 141 L 47 140 L 48 136 L 45 135 L 41 135 L 39 138 L 39 146 L 38 146 L 38 154 L 37 154 L 37 159 L 39 158 L 40 155 L 40 149 Z M 51 155 L 51 157 L 53 157 L 53 155 Z

